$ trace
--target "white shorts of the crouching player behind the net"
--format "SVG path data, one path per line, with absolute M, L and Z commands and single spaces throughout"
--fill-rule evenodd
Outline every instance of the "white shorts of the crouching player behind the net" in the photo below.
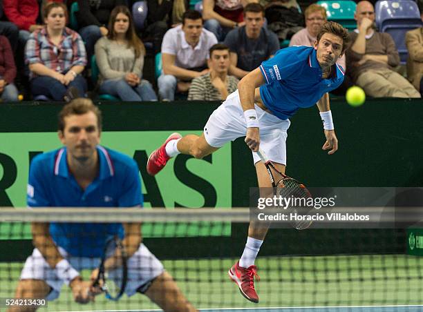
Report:
M 60 254 L 65 257 L 68 262 L 77 271 L 83 269 L 93 270 L 100 266 L 100 258 L 90 257 L 68 257 L 68 254 L 63 248 L 59 247 Z M 154 280 L 158 275 L 164 271 L 162 263 L 156 258 L 149 249 L 140 244 L 140 248 L 128 259 L 128 282 L 126 283 L 125 293 L 128 296 L 134 295 L 140 286 L 147 286 Z M 115 271 L 109 273 L 111 280 L 115 280 L 121 271 Z M 44 257 L 41 255 L 37 248 L 34 249 L 32 255 L 30 255 L 23 266 L 21 272 L 21 280 L 44 280 L 48 286 L 52 288 L 52 291 L 47 296 L 47 300 L 55 300 L 59 297 L 60 290 L 64 282 L 59 280 L 55 273 L 55 269 L 52 269 Z M 144 289 L 144 291 L 147 290 Z M 143 292 L 144 292 L 143 291 Z

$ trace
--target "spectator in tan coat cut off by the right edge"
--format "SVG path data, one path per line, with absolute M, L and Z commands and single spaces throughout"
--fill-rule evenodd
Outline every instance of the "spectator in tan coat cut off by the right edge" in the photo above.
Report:
M 417 3 L 423 21 L 423 1 Z M 423 97 L 423 27 L 406 33 L 406 45 L 408 49 L 407 77 Z

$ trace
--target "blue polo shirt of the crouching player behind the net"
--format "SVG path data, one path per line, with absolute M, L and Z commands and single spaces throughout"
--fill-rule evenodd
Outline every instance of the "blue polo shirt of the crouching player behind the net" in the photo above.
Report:
M 100 170 L 86 188 L 69 172 L 66 148 L 37 155 L 30 165 L 27 203 L 30 207 L 133 207 L 142 206 L 138 166 L 130 157 L 97 146 Z M 57 208 L 59 209 L 59 208 Z M 122 224 L 50 223 L 57 246 L 79 257 L 101 257 L 106 240 L 124 237 Z

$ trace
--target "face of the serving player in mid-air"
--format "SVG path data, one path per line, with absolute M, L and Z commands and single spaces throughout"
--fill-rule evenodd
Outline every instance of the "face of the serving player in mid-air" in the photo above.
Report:
M 317 50 L 317 61 L 322 68 L 332 66 L 337 62 L 341 56 L 343 43 L 341 37 L 329 33 L 323 34 L 320 41 L 314 43 L 314 49 Z

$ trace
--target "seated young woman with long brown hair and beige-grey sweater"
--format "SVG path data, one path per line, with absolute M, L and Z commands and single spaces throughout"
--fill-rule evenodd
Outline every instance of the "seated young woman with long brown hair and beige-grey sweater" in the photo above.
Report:
M 131 12 L 115 7 L 110 15 L 109 33 L 95 43 L 95 57 L 101 73 L 100 92 L 122 101 L 157 101 L 149 81 L 141 79 L 145 48 L 135 33 Z

